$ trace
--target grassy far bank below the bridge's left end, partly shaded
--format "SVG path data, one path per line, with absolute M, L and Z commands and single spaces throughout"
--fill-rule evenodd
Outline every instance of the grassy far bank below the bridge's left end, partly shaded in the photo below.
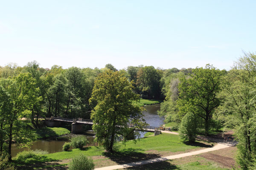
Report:
M 36 134 L 36 139 L 46 139 L 54 136 L 69 134 L 70 131 L 63 127 L 43 127 L 33 130 Z

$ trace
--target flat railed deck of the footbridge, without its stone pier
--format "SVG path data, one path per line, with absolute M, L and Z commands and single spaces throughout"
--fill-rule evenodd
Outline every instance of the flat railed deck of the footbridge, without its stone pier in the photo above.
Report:
M 53 117 L 52 118 L 45 118 L 46 120 L 54 120 L 54 121 L 61 121 L 61 122 L 70 122 L 70 123 L 73 123 L 74 121 L 76 123 L 79 123 L 79 124 L 89 124 L 89 125 L 93 125 L 93 120 L 90 120 L 90 119 L 76 119 L 76 120 L 73 120 L 73 119 L 65 119 L 65 118 L 58 118 L 58 117 Z M 133 128 L 134 126 L 129 126 L 130 128 Z M 158 128 L 158 127 L 154 127 L 154 126 L 146 126 L 145 128 L 143 128 L 143 131 L 145 132 L 154 132 L 154 130 Z M 135 128 L 135 130 L 140 130 L 140 129 L 137 129 Z

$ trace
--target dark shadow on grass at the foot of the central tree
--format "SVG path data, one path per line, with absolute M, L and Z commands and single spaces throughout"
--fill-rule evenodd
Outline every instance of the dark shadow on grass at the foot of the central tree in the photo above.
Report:
M 136 161 L 143 161 L 148 159 L 155 159 L 160 158 L 159 154 L 154 153 L 141 153 L 141 149 L 123 149 L 123 150 L 116 150 L 113 153 L 105 152 L 103 153 L 104 156 L 108 157 L 112 161 L 115 161 L 118 164 L 126 164 Z

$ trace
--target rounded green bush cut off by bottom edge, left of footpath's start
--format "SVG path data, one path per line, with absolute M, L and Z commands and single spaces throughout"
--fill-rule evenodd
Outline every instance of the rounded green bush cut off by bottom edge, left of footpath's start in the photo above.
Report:
M 69 170 L 93 170 L 94 166 L 91 158 L 88 159 L 85 155 L 80 155 L 70 161 L 68 168 Z

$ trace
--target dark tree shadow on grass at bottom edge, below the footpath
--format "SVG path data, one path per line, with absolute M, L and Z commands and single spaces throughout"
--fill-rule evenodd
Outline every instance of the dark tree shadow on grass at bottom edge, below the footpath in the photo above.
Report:
M 171 164 L 170 161 L 161 161 L 151 164 L 144 164 L 135 167 L 128 167 L 125 170 L 180 170 L 176 165 Z

